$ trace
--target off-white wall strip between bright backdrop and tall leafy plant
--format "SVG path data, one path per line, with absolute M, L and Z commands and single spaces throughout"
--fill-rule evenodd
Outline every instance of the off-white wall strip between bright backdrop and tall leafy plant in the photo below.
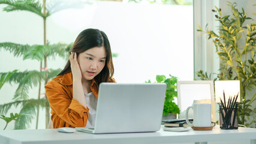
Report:
M 218 0 L 194 0 L 194 70 L 195 72 L 203 70 L 208 76 L 210 73 L 218 73 L 219 56 L 212 40 L 208 40 L 206 34 L 199 37 L 201 32 L 197 29 L 200 25 L 203 30 L 206 30 L 207 25 L 207 28 L 218 31 L 219 23 L 215 21 L 215 13 L 212 12 L 215 6 L 219 7 Z

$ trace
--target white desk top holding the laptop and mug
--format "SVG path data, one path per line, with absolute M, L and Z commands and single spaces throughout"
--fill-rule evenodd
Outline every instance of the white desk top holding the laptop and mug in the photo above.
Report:
M 79 143 L 207 143 L 227 140 L 251 140 L 256 144 L 256 128 L 221 130 L 218 125 L 211 131 L 160 131 L 154 133 L 89 134 L 59 133 L 54 129 L 43 130 L 6 130 L 0 131 L 0 143 L 10 144 L 79 144 Z

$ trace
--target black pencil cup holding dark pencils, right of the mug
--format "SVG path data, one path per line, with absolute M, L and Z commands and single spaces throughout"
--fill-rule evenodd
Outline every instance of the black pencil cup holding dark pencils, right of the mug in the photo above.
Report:
M 233 130 L 238 128 L 238 107 L 219 108 L 219 125 L 222 130 Z

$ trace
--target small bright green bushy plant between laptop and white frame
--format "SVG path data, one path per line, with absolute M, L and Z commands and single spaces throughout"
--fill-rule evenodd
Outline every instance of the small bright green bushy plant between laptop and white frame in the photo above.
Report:
M 157 83 L 166 83 L 166 92 L 165 92 L 165 104 L 163 106 L 163 119 L 174 119 L 176 118 L 177 113 L 180 113 L 180 109 L 177 104 L 174 103 L 174 97 L 177 97 L 177 77 L 171 76 L 166 79 L 164 75 L 157 75 Z M 150 80 L 146 83 L 151 83 Z M 172 118 L 166 118 L 166 115 L 172 115 Z M 174 117 L 174 116 L 175 117 Z

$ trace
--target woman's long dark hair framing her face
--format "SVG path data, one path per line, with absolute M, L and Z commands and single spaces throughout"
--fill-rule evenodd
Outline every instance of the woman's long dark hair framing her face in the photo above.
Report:
M 76 52 L 77 58 L 80 53 L 93 47 L 105 47 L 106 50 L 106 63 L 102 71 L 94 77 L 97 85 L 99 86 L 102 82 L 109 82 L 114 74 L 114 65 L 112 61 L 111 47 L 105 32 L 99 29 L 85 29 L 82 31 L 75 40 L 71 52 Z M 58 74 L 58 76 L 71 72 L 70 61 L 67 61 L 66 66 Z

